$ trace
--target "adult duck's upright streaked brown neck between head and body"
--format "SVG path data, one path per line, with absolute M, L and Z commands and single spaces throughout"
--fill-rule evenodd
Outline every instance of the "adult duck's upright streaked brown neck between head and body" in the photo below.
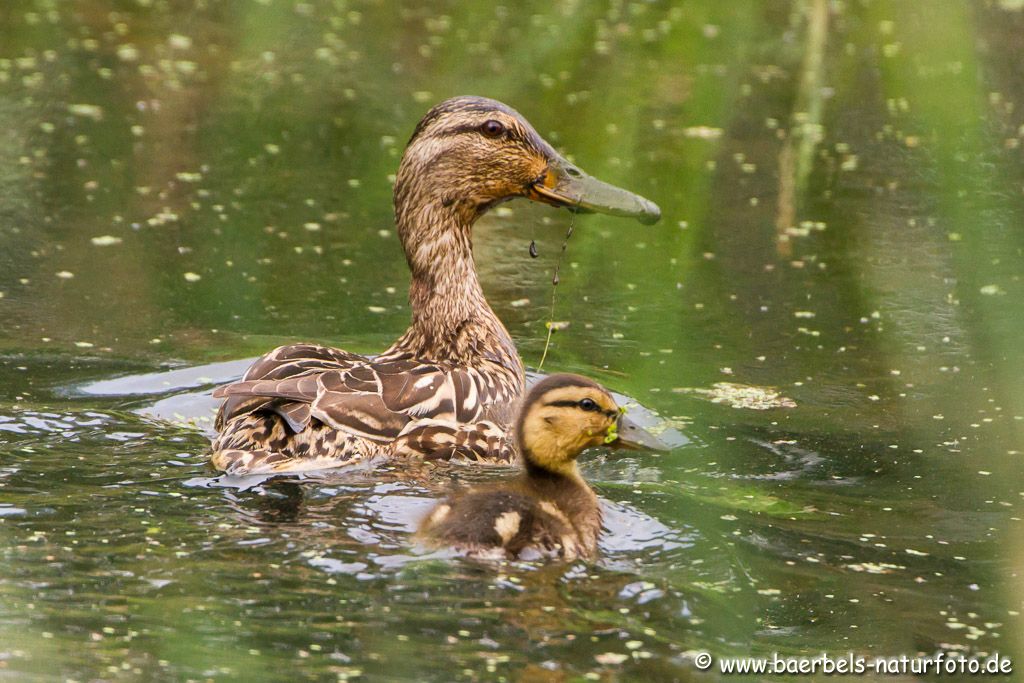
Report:
M 413 325 L 391 350 L 426 359 L 500 362 L 519 377 L 522 362 L 505 326 L 487 305 L 473 260 L 476 212 L 443 196 L 410 196 L 398 187 L 395 219 L 413 274 Z

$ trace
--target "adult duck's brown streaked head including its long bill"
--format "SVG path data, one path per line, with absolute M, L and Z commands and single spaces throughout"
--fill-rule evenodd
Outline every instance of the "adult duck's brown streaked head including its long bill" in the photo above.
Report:
M 453 97 L 416 126 L 398 169 L 395 201 L 438 201 L 471 222 L 505 200 L 525 197 L 573 211 L 653 223 L 657 206 L 592 178 L 542 138 L 516 111 L 485 97 Z

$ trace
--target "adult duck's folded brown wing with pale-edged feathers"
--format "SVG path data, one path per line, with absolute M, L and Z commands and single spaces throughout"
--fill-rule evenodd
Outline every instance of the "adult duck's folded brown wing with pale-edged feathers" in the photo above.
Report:
M 272 357 L 271 357 L 272 356 Z M 476 369 L 390 357 L 365 356 L 312 345 L 275 349 L 241 382 L 219 387 L 227 400 L 222 420 L 271 410 L 293 431 L 310 419 L 375 441 L 408 434 L 413 423 L 466 424 L 506 398 L 507 388 Z

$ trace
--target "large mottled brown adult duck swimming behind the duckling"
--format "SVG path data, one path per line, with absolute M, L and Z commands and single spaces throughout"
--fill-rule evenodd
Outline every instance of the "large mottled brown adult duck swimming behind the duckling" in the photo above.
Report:
M 256 360 L 214 392 L 225 400 L 213 465 L 257 474 L 396 454 L 511 460 L 507 432 L 523 367 L 480 289 L 472 226 L 516 197 L 643 222 L 659 217 L 651 202 L 570 164 L 505 104 L 437 104 L 416 126 L 394 186 L 412 326 L 375 357 L 294 344 Z

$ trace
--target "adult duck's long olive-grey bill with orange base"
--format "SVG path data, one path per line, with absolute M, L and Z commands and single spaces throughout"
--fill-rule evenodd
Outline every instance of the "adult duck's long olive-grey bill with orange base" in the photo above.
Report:
M 572 211 L 606 213 L 656 223 L 657 205 L 639 195 L 593 178 L 562 158 L 550 162 L 547 172 L 529 186 L 526 197 Z

